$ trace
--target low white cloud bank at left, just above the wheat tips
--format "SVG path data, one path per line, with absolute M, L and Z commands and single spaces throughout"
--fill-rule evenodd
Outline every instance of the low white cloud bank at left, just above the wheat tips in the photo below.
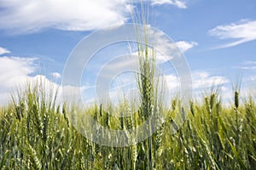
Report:
M 62 97 L 74 101 L 73 96 L 79 96 L 88 88 L 87 86 L 61 86 L 50 81 L 44 75 L 36 74 L 38 65 L 35 63 L 37 60 L 37 58 L 0 57 L 0 106 L 9 104 L 10 95 L 15 94 L 17 90 L 25 90 L 28 83 L 44 86 L 45 94 L 49 97 L 58 92 L 58 103 L 61 103 Z M 55 78 L 61 78 L 60 73 L 57 72 L 53 72 L 51 75 Z M 66 92 L 65 96 L 63 92 Z

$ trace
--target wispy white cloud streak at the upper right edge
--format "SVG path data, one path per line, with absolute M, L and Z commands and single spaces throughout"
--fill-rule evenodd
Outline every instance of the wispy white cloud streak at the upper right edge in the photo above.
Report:
M 244 42 L 256 40 L 256 20 L 240 20 L 230 25 L 216 26 L 209 34 L 219 39 L 232 39 L 218 48 L 230 48 Z M 235 41 L 236 40 L 236 41 Z

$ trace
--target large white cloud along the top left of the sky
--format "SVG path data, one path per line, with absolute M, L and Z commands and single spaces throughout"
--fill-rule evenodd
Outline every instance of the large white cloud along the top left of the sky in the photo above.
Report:
M 1 8 L 0 28 L 16 33 L 94 30 L 125 23 L 132 10 L 128 0 L 3 0 Z

